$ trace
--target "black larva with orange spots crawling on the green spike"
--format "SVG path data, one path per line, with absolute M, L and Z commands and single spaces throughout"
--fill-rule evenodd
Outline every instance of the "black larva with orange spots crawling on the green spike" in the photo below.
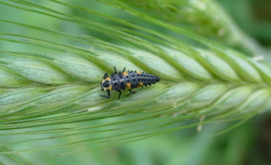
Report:
M 108 95 L 100 95 L 104 98 L 110 98 L 110 91 L 114 90 L 119 92 L 119 98 L 122 94 L 122 91 L 126 88 L 130 91 L 130 93 L 136 93 L 131 89 L 140 88 L 144 85 L 155 84 L 160 81 L 160 78 L 154 76 L 152 74 L 147 74 L 140 71 L 125 71 L 125 67 L 122 72 L 117 73 L 116 67 L 114 66 L 115 74 L 111 74 L 109 77 L 107 73 L 104 74 L 104 78 L 102 78 L 101 87 L 102 91 L 107 91 Z

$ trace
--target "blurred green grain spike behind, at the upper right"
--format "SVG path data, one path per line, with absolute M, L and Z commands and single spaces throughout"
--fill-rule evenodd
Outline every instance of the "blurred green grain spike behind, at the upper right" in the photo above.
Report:
M 239 1 L 226 2 L 234 5 L 240 3 Z M 244 33 L 214 0 L 125 0 L 124 3 L 137 7 L 139 10 L 145 9 L 140 11 L 157 19 L 162 19 L 169 24 L 193 29 L 203 36 L 242 50 L 247 55 L 257 56 L 261 54 L 268 57 L 268 52 L 255 39 Z M 247 2 L 242 1 L 240 5 L 244 3 Z M 248 13 L 242 14 L 249 15 Z M 246 26 L 251 26 L 251 23 L 246 22 Z

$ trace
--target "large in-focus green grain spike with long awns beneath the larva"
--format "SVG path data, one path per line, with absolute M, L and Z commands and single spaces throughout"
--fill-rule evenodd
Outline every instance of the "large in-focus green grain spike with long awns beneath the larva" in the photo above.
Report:
M 154 27 L 140 26 L 85 7 L 56 0 L 49 1 L 50 4 L 91 13 L 119 26 L 111 25 L 112 22 L 102 24 L 91 17 L 66 14 L 30 1 L 0 2 L 14 8 L 15 11 L 23 10 L 28 14 L 46 15 L 58 21 L 65 21 L 69 25 L 84 27 L 91 32 L 113 38 L 113 41 L 107 41 L 102 37 L 66 33 L 0 19 L 5 25 L 16 25 L 33 33 L 45 33 L 44 37 L 10 31 L 0 33 L 0 39 L 5 42 L 38 48 L 38 51 L 27 49 L 28 51 L 0 52 L 0 129 L 3 131 L 0 136 L 31 137 L 58 133 L 56 136 L 28 138 L 7 144 L 14 145 L 101 132 L 109 132 L 110 135 L 85 140 L 76 139 L 72 143 L 46 147 L 3 151 L 0 154 L 98 144 L 96 148 L 70 151 L 61 155 L 91 151 L 205 123 L 240 119 L 245 121 L 260 111 L 270 109 L 271 67 L 263 61 L 257 61 L 244 55 L 245 53 L 226 48 L 186 28 L 167 24 L 167 18 L 160 20 L 157 15 L 149 15 L 134 8 L 134 4 L 129 5 L 130 3 L 117 0 L 102 1 L 137 19 L 142 19 L 146 24 L 174 32 L 174 35 L 167 35 Z M 182 7 L 189 9 L 194 3 L 187 2 L 183 3 Z M 149 1 L 146 3 L 150 4 Z M 169 15 L 175 16 L 173 19 L 179 16 L 175 12 L 189 11 L 176 11 L 166 3 L 162 4 L 166 6 Z M 212 5 L 212 1 L 208 4 Z M 198 12 L 197 10 L 197 13 L 191 16 L 200 18 Z M 201 13 L 212 15 L 206 11 Z M 189 19 L 195 21 L 195 18 Z M 208 19 L 210 22 L 214 21 L 214 18 Z M 222 19 L 218 22 L 222 27 L 226 24 L 223 21 Z M 197 25 L 199 28 L 202 27 L 201 24 Z M 201 30 L 214 28 L 212 26 L 207 24 Z M 186 43 L 186 40 L 175 35 L 185 36 L 190 42 Z M 21 41 L 22 38 L 24 41 Z M 65 42 L 58 41 L 59 38 L 64 38 Z M 133 95 L 126 91 L 119 100 L 116 92 L 112 92 L 110 99 L 99 97 L 103 94 L 100 87 L 102 76 L 104 72 L 113 72 L 114 66 L 119 71 L 126 67 L 127 70 L 142 70 L 155 74 L 161 81 L 151 87 L 136 89 L 137 93 Z M 205 117 L 203 121 L 200 120 L 202 117 Z M 88 125 L 75 124 L 83 121 L 89 121 Z M 96 123 L 98 121 L 102 122 Z M 176 123 L 183 125 L 174 126 Z M 71 125 L 66 126 L 68 124 Z M 82 132 L 83 130 L 88 131 Z M 72 131 L 73 133 L 70 133 Z

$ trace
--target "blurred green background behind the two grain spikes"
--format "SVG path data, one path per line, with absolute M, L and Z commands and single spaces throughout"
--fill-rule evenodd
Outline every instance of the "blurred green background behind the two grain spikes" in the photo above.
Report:
M 33 1 L 34 2 L 34 1 Z M 117 10 L 113 7 L 106 6 L 96 1 L 76 1 L 67 0 L 67 3 L 84 6 L 96 11 L 99 11 L 110 16 L 115 16 L 128 20 L 130 22 L 137 22 L 137 25 L 146 25 L 136 17 L 124 14 L 124 12 Z M 255 38 L 262 46 L 270 49 L 271 45 L 271 1 L 270 0 L 217 0 L 217 2 L 226 10 L 236 24 L 249 36 Z M 61 5 L 52 5 L 52 2 L 35 0 L 35 3 L 50 6 L 51 8 L 77 15 L 91 20 L 96 20 L 103 24 L 115 25 L 114 22 L 96 17 L 93 15 L 86 15 L 85 12 L 71 9 Z M 111 36 L 104 35 L 96 31 L 89 31 L 84 27 L 67 23 L 58 19 L 53 19 L 48 16 L 33 14 L 17 10 L 11 7 L 0 4 L 0 19 L 22 22 L 25 24 L 44 27 L 47 29 L 54 29 L 73 34 L 86 34 L 112 43 L 119 43 Z M 120 25 L 115 25 L 120 26 Z M 169 34 L 171 32 L 165 29 L 157 29 L 161 33 Z M 48 40 L 59 41 L 76 45 L 78 43 L 70 40 L 63 39 L 58 36 L 48 35 L 42 32 L 37 32 L 31 29 L 15 26 L 5 22 L 0 22 L 1 32 L 12 32 L 33 37 L 41 37 Z M 11 40 L 14 38 L 10 37 Z M 80 45 L 82 46 L 82 45 Z M 8 41 L 0 40 L 0 50 L 12 51 L 27 51 L 27 52 L 50 52 L 46 48 L 40 48 L 25 44 L 15 44 Z M 107 119 L 118 120 L 118 118 Z M 93 121 L 91 121 L 93 122 Z M 103 121 L 96 121 L 102 123 Z M 74 151 L 81 149 L 93 148 L 92 145 L 79 145 L 72 148 L 54 149 L 36 152 L 25 152 L 21 155 L 33 162 L 33 164 L 131 164 L 131 165 L 175 165 L 175 164 L 271 164 L 271 118 L 270 114 L 258 115 L 239 126 L 220 136 L 208 138 L 222 130 L 225 130 L 230 125 L 212 123 L 203 125 L 200 132 L 196 128 L 180 130 L 171 134 L 166 134 L 134 143 L 128 143 L 117 147 L 110 147 L 95 151 L 87 151 L 82 153 L 71 154 L 63 157 L 51 157 L 64 151 Z M 65 127 L 84 126 L 88 122 L 70 123 Z M 54 126 L 46 127 L 45 129 L 53 129 Z M 34 130 L 31 128 L 29 130 Z M 107 134 L 110 134 L 107 133 Z M 51 134 L 46 136 L 56 136 Z M 33 136 L 33 138 L 43 137 L 44 135 Z M 95 135 L 96 136 L 96 135 Z M 53 145 L 59 143 L 70 143 L 74 140 L 95 137 L 92 134 L 84 134 L 78 136 L 68 136 L 64 138 L 44 140 L 43 146 Z M 8 142 L 24 140 L 24 136 L 13 136 L 14 139 L 7 139 L 0 137 L 0 140 Z M 28 136 L 29 137 L 29 136 Z M 12 149 L 24 149 L 25 147 L 40 147 L 36 143 L 22 143 L 19 145 L 10 145 Z M 20 159 L 20 158 L 18 158 Z M 16 164 L 10 156 L 0 155 L 0 164 Z

